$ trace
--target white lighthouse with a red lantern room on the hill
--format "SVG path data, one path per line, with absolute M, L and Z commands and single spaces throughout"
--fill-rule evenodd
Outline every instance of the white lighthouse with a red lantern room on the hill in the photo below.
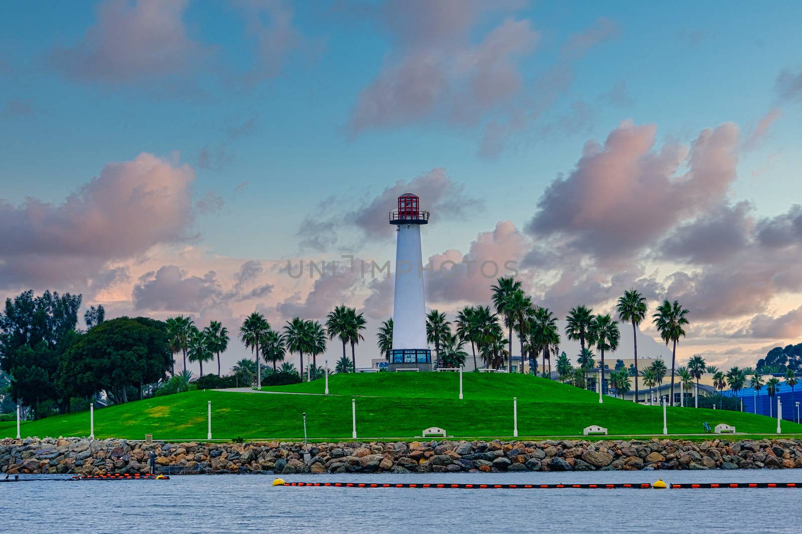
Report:
M 420 199 L 411 193 L 399 196 L 398 211 L 390 212 L 390 223 L 395 225 L 396 232 L 390 371 L 414 368 L 431 371 L 420 255 L 420 227 L 428 222 L 429 212 L 420 209 Z

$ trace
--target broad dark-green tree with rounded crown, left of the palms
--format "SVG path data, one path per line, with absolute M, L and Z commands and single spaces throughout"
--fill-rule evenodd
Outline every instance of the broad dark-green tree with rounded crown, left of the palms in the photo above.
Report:
M 171 358 L 164 323 L 117 317 L 92 327 L 67 350 L 59 366 L 59 387 L 81 397 L 105 390 L 126 403 L 127 388 L 164 379 Z

